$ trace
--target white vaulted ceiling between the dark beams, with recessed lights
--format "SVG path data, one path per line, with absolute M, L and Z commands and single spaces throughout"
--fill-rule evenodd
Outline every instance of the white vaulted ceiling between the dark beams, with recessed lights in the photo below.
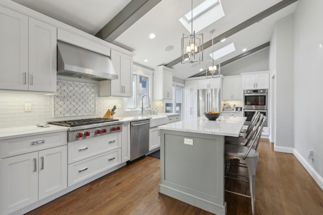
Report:
M 12 1 L 89 34 L 96 35 L 106 24 L 108 24 L 107 28 L 109 29 L 112 26 L 109 26 L 110 21 L 114 17 L 118 17 L 118 13 L 127 8 L 128 4 L 129 11 L 129 8 L 132 7 L 131 4 L 137 4 L 135 2 L 139 0 Z M 158 65 L 172 67 L 174 69 L 173 76 L 180 79 L 200 73 L 200 68 L 205 69 L 206 60 L 211 59 L 209 54 L 212 52 L 210 45 L 212 35 L 209 32 L 212 29 L 215 30 L 213 33 L 214 51 L 232 42 L 235 45 L 236 51 L 220 58 L 221 62 L 226 62 L 241 55 L 244 48 L 248 51 L 269 42 L 275 22 L 294 13 L 298 3 L 296 0 L 221 0 L 225 16 L 201 31 L 195 32 L 203 33 L 204 44 L 209 42 L 208 45 L 204 46 L 204 61 L 200 64 L 189 65 L 181 64 L 178 61 L 181 55 L 182 35 L 183 33 L 190 34 L 179 22 L 179 19 L 191 11 L 191 1 L 142 0 L 141 2 L 149 1 L 153 6 L 148 7 L 148 9 L 146 7 L 141 12 L 136 10 L 134 15 L 128 15 L 132 22 L 130 24 L 128 21 L 119 23 L 118 25 L 123 26 L 124 30 L 119 30 L 112 41 L 110 41 L 111 39 L 106 40 L 134 52 L 136 55 L 133 60 L 137 64 L 149 68 Z M 193 8 L 203 1 L 193 0 Z M 127 15 L 127 11 L 124 13 Z M 149 39 L 150 33 L 154 33 L 156 37 Z M 227 40 L 218 42 L 222 39 L 220 35 L 226 36 Z M 172 46 L 174 48 L 169 50 Z M 167 47 L 168 50 L 166 50 Z M 144 61 L 145 59 L 147 62 Z

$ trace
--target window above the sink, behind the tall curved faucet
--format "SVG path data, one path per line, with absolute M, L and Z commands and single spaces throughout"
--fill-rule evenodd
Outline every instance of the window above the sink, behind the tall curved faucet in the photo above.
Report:
M 149 78 L 133 74 L 132 76 L 132 98 L 127 98 L 127 109 L 141 108 L 142 97 L 148 95 Z M 151 101 L 152 102 L 152 101 Z M 149 100 L 147 97 L 143 99 L 144 107 L 148 107 Z

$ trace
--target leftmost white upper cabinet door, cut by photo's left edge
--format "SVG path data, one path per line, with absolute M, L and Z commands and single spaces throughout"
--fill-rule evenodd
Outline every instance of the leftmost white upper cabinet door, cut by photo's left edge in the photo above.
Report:
M 28 90 L 28 17 L 0 7 L 0 89 Z

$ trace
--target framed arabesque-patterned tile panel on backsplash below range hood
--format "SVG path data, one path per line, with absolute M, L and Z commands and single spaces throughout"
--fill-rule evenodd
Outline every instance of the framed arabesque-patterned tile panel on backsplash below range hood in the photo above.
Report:
M 57 81 L 54 116 L 95 114 L 95 85 Z

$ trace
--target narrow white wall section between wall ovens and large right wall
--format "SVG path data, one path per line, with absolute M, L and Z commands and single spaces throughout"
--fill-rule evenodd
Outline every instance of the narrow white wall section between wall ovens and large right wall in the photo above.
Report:
M 275 151 L 293 153 L 294 147 L 294 15 L 275 25 Z M 273 48 L 274 50 L 274 48 Z M 273 51 L 272 50 L 272 51 Z M 273 69 L 273 68 L 272 68 Z M 273 74 L 273 72 L 272 72 Z

